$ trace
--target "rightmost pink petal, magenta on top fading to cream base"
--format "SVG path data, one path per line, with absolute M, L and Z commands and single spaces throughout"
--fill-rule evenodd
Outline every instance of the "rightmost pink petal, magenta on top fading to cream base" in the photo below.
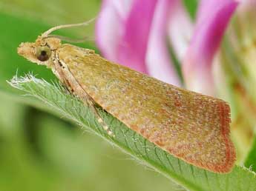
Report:
M 201 1 L 194 35 L 183 63 L 188 89 L 214 95 L 212 60 L 236 7 L 234 0 Z

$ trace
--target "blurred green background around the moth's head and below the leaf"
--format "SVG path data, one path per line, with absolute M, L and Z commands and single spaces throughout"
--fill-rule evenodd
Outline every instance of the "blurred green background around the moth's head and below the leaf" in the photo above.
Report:
M 18 70 L 55 80 L 50 70 L 16 53 L 50 27 L 92 19 L 101 1 L 0 0 L 0 190 L 182 190 L 96 135 L 38 110 L 7 84 Z M 65 30 L 93 37 L 93 24 Z M 91 44 L 80 44 L 95 47 Z

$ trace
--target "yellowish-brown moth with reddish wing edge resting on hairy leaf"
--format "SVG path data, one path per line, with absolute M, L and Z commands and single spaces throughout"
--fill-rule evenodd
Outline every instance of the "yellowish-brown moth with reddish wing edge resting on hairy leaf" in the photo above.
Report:
M 235 161 L 229 137 L 230 109 L 225 101 L 166 84 L 102 58 L 93 50 L 62 44 L 53 27 L 18 53 L 45 65 L 98 116 L 98 104 L 129 128 L 171 155 L 213 172 L 229 172 Z

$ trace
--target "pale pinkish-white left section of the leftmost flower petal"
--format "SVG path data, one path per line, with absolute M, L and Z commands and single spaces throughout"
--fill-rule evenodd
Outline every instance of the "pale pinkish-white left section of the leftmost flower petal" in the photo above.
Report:
M 117 50 L 130 12 L 132 0 L 103 0 L 99 18 L 96 21 L 96 44 L 102 55 L 118 62 Z

